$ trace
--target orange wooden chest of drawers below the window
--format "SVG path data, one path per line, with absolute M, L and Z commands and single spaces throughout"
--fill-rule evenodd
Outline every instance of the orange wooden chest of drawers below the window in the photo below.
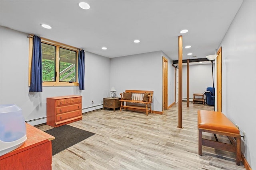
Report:
M 82 120 L 82 96 L 59 96 L 46 99 L 46 124 L 59 127 Z

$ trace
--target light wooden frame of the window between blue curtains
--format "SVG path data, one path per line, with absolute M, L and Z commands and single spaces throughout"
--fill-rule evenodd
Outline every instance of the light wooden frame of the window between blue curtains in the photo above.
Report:
M 32 65 L 32 53 L 33 53 L 33 36 L 29 35 L 29 67 L 28 67 L 28 86 L 30 86 L 30 80 L 31 80 L 31 65 Z M 56 77 L 55 82 L 43 82 L 43 86 L 79 86 L 78 83 L 78 53 L 79 49 L 76 47 L 72 47 L 70 45 L 66 45 L 63 43 L 59 43 L 56 41 L 52 41 L 50 39 L 42 38 L 41 37 L 41 43 L 46 43 L 49 45 L 56 46 L 56 62 L 55 62 L 55 68 L 56 68 Z M 76 82 L 60 82 L 60 48 L 76 51 Z

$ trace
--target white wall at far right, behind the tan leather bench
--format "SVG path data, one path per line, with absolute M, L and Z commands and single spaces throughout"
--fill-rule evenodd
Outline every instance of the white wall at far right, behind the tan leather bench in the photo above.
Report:
M 222 112 L 240 133 L 242 152 L 256 170 L 256 1 L 245 0 L 230 25 L 222 46 Z

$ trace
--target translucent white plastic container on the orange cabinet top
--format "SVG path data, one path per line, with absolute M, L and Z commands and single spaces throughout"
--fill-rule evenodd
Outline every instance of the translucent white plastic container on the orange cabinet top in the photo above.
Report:
M 26 140 L 22 109 L 14 104 L 0 105 L 0 156 L 20 147 Z

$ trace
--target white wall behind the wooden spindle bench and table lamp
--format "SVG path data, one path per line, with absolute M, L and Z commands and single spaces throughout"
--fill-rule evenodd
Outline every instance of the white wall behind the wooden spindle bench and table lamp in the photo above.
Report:
M 111 59 L 110 86 L 116 94 L 125 90 L 153 90 L 152 110 L 162 111 L 162 52 Z

